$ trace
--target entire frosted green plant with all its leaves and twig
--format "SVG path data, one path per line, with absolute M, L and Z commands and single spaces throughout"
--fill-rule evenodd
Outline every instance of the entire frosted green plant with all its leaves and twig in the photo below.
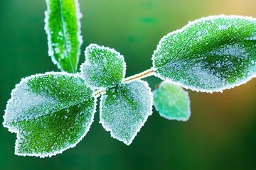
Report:
M 22 79 L 11 92 L 3 125 L 17 133 L 18 155 L 50 157 L 74 147 L 93 121 L 97 97 L 100 122 L 112 137 L 129 145 L 151 115 L 152 105 L 171 120 L 188 120 L 188 95 L 180 86 L 223 91 L 255 77 L 256 19 L 210 16 L 169 33 L 159 42 L 153 67 L 125 77 L 124 57 L 113 49 L 89 45 L 80 56 L 77 0 L 48 0 L 49 55 L 63 72 Z M 167 79 L 153 94 L 146 81 Z M 154 102 L 153 102 L 154 98 Z

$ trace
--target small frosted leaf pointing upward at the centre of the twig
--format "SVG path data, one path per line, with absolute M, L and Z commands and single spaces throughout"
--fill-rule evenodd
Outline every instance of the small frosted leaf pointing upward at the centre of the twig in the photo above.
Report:
M 94 87 L 114 86 L 125 76 L 124 57 L 109 47 L 91 44 L 85 49 L 85 63 L 80 67 L 87 84 Z

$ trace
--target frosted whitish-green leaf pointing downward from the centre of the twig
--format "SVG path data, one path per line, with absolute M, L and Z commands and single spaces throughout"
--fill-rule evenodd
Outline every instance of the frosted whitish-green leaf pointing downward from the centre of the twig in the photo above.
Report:
M 152 113 L 153 96 L 145 81 L 107 88 L 100 103 L 100 123 L 111 136 L 130 145 Z

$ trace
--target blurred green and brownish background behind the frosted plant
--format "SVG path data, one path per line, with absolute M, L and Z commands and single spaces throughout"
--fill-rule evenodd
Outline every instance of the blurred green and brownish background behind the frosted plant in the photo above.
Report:
M 124 55 L 129 77 L 149 69 L 161 37 L 188 21 L 222 13 L 256 17 L 255 7 L 255 0 L 80 0 L 82 51 L 92 42 L 113 47 Z M 44 0 L 0 0 L 1 115 L 22 77 L 58 71 L 48 57 L 44 11 Z M 146 80 L 151 88 L 160 82 Z M 256 169 L 256 79 L 223 94 L 189 94 L 188 122 L 154 110 L 129 147 L 103 130 L 98 113 L 75 148 L 45 159 L 14 155 L 16 134 L 0 126 L 0 169 Z

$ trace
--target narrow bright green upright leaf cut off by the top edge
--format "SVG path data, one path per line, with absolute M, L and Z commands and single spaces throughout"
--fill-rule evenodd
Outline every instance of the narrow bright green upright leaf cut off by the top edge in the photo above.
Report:
M 82 45 L 78 0 L 46 0 L 46 4 L 48 54 L 59 69 L 75 73 Z

